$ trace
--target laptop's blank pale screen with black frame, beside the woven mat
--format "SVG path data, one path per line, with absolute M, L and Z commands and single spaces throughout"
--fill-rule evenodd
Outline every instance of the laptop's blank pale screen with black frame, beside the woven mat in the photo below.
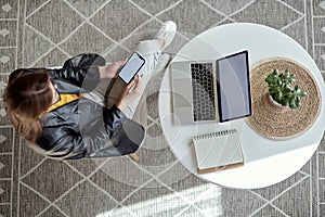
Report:
M 248 52 L 217 60 L 220 122 L 251 115 Z

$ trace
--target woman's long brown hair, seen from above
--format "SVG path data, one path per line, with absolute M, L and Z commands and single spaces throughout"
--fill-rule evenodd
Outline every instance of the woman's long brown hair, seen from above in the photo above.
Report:
M 42 132 L 40 116 L 52 104 L 50 75 L 46 69 L 35 69 L 32 73 L 20 69 L 14 73 L 3 95 L 6 113 L 20 135 L 36 143 Z

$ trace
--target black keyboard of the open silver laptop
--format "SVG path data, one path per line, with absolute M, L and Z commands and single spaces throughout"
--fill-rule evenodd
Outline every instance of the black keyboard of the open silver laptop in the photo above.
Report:
M 194 122 L 216 120 L 212 63 L 191 64 Z

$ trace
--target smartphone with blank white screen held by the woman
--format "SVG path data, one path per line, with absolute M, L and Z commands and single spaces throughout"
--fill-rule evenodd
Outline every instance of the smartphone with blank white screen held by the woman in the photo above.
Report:
M 129 84 L 144 65 L 145 60 L 138 52 L 132 53 L 127 63 L 119 69 L 118 77 Z

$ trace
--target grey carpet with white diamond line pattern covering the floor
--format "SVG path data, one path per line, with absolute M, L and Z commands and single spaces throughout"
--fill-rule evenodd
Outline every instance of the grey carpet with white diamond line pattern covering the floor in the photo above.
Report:
M 167 20 L 179 26 L 170 54 L 210 27 L 252 22 L 296 39 L 325 71 L 321 0 L 0 0 L 0 93 L 17 67 L 57 66 L 81 52 L 122 60 Z M 147 90 L 147 137 L 139 162 L 38 155 L 18 138 L 1 104 L 0 216 L 325 216 L 324 140 L 299 171 L 272 187 L 237 190 L 206 182 L 180 165 L 165 141 L 160 79 L 158 74 Z

